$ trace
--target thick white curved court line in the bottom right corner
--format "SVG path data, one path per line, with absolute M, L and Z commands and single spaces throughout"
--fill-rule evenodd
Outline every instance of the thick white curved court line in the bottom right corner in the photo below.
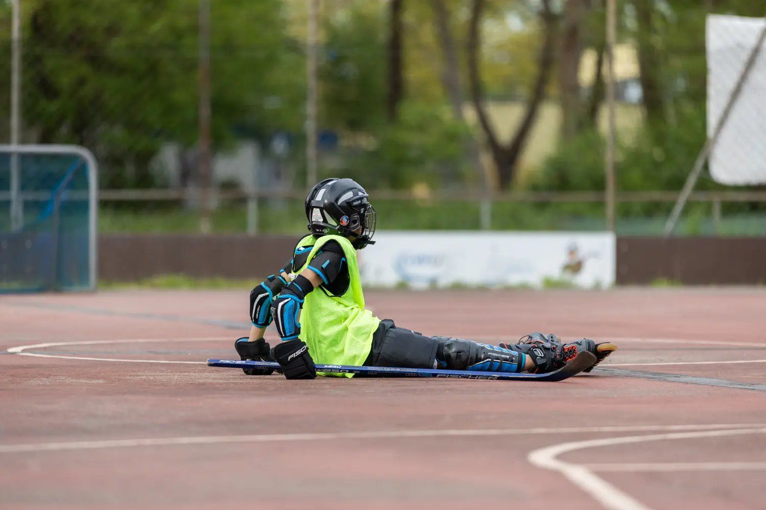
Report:
M 647 505 L 633 499 L 632 496 L 617 489 L 611 483 L 597 476 L 588 466 L 568 463 L 558 459 L 563 453 L 586 448 L 609 447 L 617 444 L 647 443 L 649 441 L 694 439 L 699 437 L 723 437 L 744 434 L 766 434 L 766 428 L 745 428 L 728 430 L 706 430 L 696 432 L 679 432 L 672 434 L 654 434 L 648 436 L 607 437 L 606 439 L 591 439 L 572 441 L 570 443 L 554 444 L 529 453 L 527 460 L 541 469 L 558 471 L 570 482 L 600 502 L 609 510 L 650 510 Z

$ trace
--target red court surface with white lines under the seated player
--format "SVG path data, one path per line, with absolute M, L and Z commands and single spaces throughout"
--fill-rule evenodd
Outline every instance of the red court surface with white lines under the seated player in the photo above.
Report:
M 619 346 L 558 383 L 208 367 L 247 295 L 0 297 L 0 508 L 766 508 L 766 291 L 366 294 L 426 334 Z

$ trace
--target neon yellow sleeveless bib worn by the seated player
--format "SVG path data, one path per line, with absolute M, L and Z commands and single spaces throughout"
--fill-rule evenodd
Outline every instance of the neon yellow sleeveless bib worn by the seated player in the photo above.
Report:
M 341 236 L 306 236 L 298 242 L 297 248 L 313 244 L 309 258 L 302 268 L 293 268 L 295 274 L 306 269 L 312 258 L 328 241 L 336 241 L 343 249 L 348 265 L 349 287 L 340 296 L 329 294 L 323 285 L 306 294 L 303 311 L 300 314 L 300 339 L 309 346 L 309 353 L 315 363 L 325 365 L 362 365 L 372 348 L 372 334 L 381 322 L 365 310 L 365 296 L 356 261 L 356 250 L 349 239 Z M 329 374 L 319 372 L 321 375 Z

